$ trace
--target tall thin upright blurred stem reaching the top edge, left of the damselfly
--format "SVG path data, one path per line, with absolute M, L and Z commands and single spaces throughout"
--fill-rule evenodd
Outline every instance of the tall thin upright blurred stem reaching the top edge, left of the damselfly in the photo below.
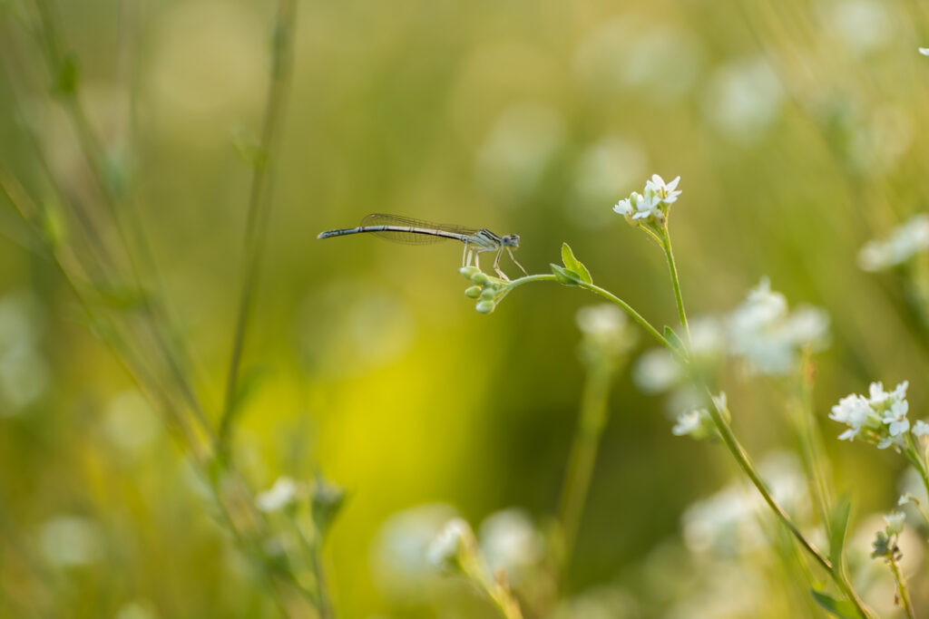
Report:
M 242 251 L 242 270 L 244 273 L 239 296 L 239 313 L 232 336 L 232 352 L 229 355 L 226 396 L 223 401 L 222 417 L 219 421 L 219 445 L 221 450 L 225 450 L 229 445 L 229 432 L 236 411 L 239 369 L 242 365 L 245 331 L 248 326 L 252 304 L 255 301 L 255 289 L 268 236 L 266 233 L 271 206 L 268 183 L 269 160 L 275 146 L 275 138 L 278 135 L 278 126 L 281 123 L 284 100 L 293 67 L 295 11 L 294 0 L 280 0 L 277 21 L 274 26 L 271 78 L 268 83 L 267 102 L 262 122 L 259 145 L 260 155 L 255 161 L 252 188 L 248 200 L 248 215 L 245 223 L 245 239 Z

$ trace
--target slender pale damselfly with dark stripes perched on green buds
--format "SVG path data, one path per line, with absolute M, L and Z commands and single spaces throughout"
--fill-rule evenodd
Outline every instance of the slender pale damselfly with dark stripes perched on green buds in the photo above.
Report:
M 361 232 L 370 232 L 383 239 L 410 245 L 425 245 L 426 243 L 436 243 L 447 239 L 460 240 L 464 243 L 462 264 L 470 266 L 473 259 L 474 265 L 478 266 L 478 268 L 480 267 L 478 253 L 496 251 L 497 255 L 493 260 L 493 270 L 500 277 L 509 280 L 509 277 L 506 277 L 506 274 L 500 268 L 500 256 L 505 250 L 510 254 L 513 263 L 522 269 L 523 273 L 526 273 L 526 269 L 522 267 L 522 264 L 517 263 L 517 259 L 513 255 L 513 250 L 519 247 L 519 235 L 510 234 L 499 237 L 487 228 L 478 229 L 453 224 L 434 224 L 421 219 L 400 217 L 399 215 L 373 213 L 362 219 L 361 225 L 358 227 L 326 230 L 321 232 L 317 239 L 342 237 L 347 234 L 360 234 Z

